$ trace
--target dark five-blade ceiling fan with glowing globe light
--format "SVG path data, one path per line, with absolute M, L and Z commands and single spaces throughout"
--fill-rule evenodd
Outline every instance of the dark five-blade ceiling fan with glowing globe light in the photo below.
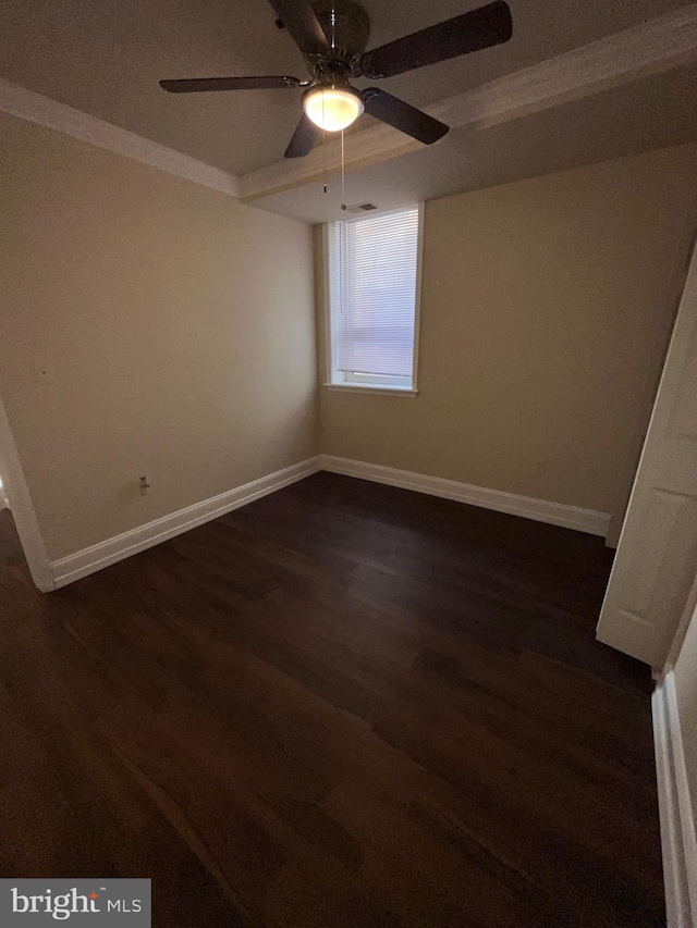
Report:
M 160 81 L 170 94 L 305 87 L 304 115 L 285 158 L 308 154 L 321 132 L 347 128 L 365 111 L 400 132 L 432 145 L 449 129 L 444 123 L 378 87 L 358 90 L 351 77 L 379 81 L 505 42 L 513 33 L 503 0 L 429 26 L 366 52 L 368 13 L 356 0 L 269 0 L 277 25 L 285 28 L 305 58 L 309 81 L 297 77 L 201 77 Z

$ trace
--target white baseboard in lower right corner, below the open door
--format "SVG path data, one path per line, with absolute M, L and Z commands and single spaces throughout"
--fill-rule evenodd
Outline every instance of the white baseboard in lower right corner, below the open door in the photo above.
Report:
M 656 688 L 651 703 L 668 928 L 694 928 L 697 839 L 673 671 Z

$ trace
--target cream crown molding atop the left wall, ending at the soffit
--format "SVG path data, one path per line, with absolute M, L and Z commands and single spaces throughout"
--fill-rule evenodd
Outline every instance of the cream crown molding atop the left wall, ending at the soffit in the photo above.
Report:
M 233 197 L 240 196 L 240 183 L 233 174 L 1 78 L 0 111 L 62 132 L 81 141 L 106 148 L 115 154 L 123 154 L 204 187 L 211 187 Z

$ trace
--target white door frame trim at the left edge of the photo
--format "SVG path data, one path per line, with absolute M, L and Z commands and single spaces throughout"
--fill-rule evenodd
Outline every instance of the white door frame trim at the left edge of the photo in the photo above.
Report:
M 44 544 L 2 397 L 0 397 L 0 474 L 32 580 L 42 593 L 56 590 L 51 562 Z

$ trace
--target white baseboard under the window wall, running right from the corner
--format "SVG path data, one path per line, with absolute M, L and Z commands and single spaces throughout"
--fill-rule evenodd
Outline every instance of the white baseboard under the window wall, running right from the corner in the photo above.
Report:
M 504 493 L 502 490 L 487 490 L 456 480 L 443 480 L 440 477 L 425 477 L 408 470 L 398 470 L 393 467 L 352 461 L 347 458 L 337 458 L 333 455 L 320 455 L 321 469 L 345 477 L 357 477 L 375 483 L 387 483 L 403 490 L 414 490 L 430 496 L 441 496 L 444 499 L 455 499 L 457 503 L 468 503 L 481 506 L 484 509 L 496 509 L 537 522 L 549 522 L 565 529 L 576 529 L 591 535 L 604 536 L 610 528 L 610 516 L 607 512 L 596 512 L 595 509 L 580 509 L 563 503 L 550 503 L 547 499 L 535 499 L 531 496 L 517 496 L 515 493 Z

